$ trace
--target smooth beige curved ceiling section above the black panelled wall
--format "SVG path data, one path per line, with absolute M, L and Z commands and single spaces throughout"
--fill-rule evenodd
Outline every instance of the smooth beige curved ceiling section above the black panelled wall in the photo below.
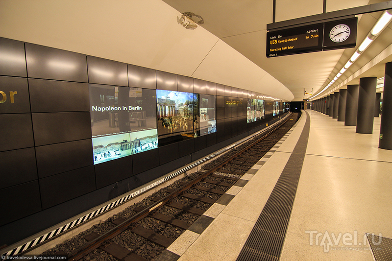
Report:
M 206 29 L 182 27 L 180 15 L 161 0 L 1 0 L 0 36 L 294 98 Z

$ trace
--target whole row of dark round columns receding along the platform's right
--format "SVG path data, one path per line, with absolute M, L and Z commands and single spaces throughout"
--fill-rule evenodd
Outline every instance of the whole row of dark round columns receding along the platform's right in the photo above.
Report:
M 356 126 L 356 133 L 372 134 L 374 117 L 380 115 L 381 93 L 376 88 L 377 77 L 360 78 L 359 85 L 312 101 L 312 109 L 344 121 L 345 126 Z M 392 150 L 392 62 L 385 66 L 379 147 Z

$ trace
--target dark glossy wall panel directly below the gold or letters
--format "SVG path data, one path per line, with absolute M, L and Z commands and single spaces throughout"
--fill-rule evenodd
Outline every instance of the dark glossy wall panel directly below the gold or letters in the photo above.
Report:
M 31 114 L 0 114 L 0 151 L 34 146 Z

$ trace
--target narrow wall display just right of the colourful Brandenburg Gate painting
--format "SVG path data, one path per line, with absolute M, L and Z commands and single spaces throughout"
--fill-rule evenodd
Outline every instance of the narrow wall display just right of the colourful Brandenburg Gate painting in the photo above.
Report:
M 196 94 L 199 110 L 196 112 L 195 137 L 217 132 L 215 95 Z

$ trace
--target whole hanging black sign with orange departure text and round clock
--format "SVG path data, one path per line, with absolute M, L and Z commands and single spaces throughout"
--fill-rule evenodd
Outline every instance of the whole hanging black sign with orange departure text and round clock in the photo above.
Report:
M 267 33 L 267 57 L 355 47 L 358 18 Z

